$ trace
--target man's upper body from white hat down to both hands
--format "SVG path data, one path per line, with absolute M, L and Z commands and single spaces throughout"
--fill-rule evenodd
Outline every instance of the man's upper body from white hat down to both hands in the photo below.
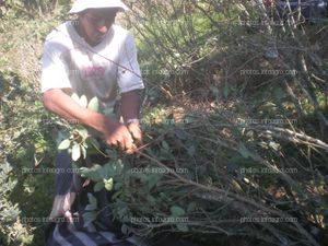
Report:
M 136 90 L 143 83 L 132 37 L 114 25 L 119 10 L 127 10 L 119 0 L 75 2 L 70 13 L 77 13 L 78 21 L 60 25 L 46 39 L 42 92 L 50 112 L 97 130 L 108 144 L 129 150 L 132 137 L 141 140 Z M 89 99 L 97 96 L 103 106 L 113 107 L 117 86 L 127 126 L 79 106 L 69 96 L 71 92 Z

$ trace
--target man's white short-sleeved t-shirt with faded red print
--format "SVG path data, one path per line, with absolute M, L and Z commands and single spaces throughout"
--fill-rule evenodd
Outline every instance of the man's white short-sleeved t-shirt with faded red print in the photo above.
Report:
M 101 44 L 90 46 L 66 22 L 46 38 L 43 55 L 42 92 L 72 89 L 89 99 L 96 96 L 113 106 L 119 93 L 143 89 L 133 37 L 113 25 Z M 105 106 L 104 105 L 104 106 Z

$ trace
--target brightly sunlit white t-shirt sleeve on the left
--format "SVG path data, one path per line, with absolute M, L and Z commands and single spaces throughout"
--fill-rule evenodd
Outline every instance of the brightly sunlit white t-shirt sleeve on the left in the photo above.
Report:
M 46 42 L 42 58 L 42 93 L 50 89 L 72 87 L 63 54 L 62 45 Z

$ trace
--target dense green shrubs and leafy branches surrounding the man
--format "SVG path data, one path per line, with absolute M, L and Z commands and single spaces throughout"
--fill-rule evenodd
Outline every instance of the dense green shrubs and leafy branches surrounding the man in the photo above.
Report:
M 55 174 L 24 171 L 52 168 L 60 142 L 77 159 L 94 145 L 62 122 L 56 139 L 58 119 L 43 108 L 43 42 L 69 10 L 45 2 L 0 1 L 0 245 L 43 245 L 45 223 L 31 218 L 49 214 Z M 327 245 L 327 20 L 272 22 L 260 1 L 126 2 L 132 11 L 119 22 L 134 34 L 147 83 L 147 145 L 80 166 L 113 190 L 122 232 Z M 81 141 L 62 142 L 72 133 Z

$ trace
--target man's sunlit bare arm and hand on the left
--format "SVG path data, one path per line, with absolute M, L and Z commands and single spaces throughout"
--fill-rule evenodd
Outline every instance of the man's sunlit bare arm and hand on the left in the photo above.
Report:
M 131 149 L 132 137 L 125 125 L 80 106 L 61 89 L 45 92 L 43 101 L 45 107 L 56 115 L 68 120 L 77 120 L 103 133 L 107 144 L 119 145 L 122 150 Z

